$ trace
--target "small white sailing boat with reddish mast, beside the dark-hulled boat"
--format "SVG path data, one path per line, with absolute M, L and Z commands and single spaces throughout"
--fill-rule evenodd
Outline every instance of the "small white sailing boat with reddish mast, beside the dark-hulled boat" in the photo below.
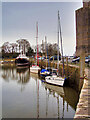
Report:
M 36 64 L 32 65 L 30 67 L 30 72 L 38 74 L 41 68 L 39 67 L 39 61 L 38 61 L 38 22 L 36 23 L 36 44 L 37 44 L 37 50 L 36 50 Z

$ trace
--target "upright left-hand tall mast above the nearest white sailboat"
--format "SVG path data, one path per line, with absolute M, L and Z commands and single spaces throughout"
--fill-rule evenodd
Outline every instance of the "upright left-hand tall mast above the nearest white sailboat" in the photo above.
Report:
M 58 11 L 58 26 L 57 26 L 57 60 L 58 60 L 58 64 L 57 64 L 57 75 L 59 75 L 59 11 Z

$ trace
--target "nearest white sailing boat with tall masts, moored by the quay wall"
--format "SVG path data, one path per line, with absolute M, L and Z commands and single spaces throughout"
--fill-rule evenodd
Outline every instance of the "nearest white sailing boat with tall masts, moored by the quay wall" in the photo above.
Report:
M 63 61 L 63 77 L 59 76 L 59 33 L 60 33 L 60 39 L 61 39 L 61 54 L 62 54 L 62 61 Z M 53 72 L 52 72 L 52 76 L 45 77 L 45 80 L 46 80 L 46 83 L 57 85 L 57 86 L 63 86 L 66 78 L 65 78 L 65 72 L 64 72 L 64 59 L 63 59 L 62 35 L 61 35 L 59 11 L 58 11 L 58 41 L 57 41 L 57 43 L 58 43 L 58 48 L 57 48 L 57 50 L 58 50 L 57 74 L 53 74 Z

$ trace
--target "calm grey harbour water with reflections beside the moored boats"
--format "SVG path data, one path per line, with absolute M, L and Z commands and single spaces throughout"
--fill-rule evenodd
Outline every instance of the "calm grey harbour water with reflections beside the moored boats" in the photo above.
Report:
M 43 82 L 28 68 L 2 66 L 3 118 L 73 118 L 78 94 Z

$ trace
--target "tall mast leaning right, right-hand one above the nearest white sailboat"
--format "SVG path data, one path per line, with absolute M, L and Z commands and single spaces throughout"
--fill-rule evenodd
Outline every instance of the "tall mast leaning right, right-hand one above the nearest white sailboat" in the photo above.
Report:
M 58 19 L 59 19 L 60 40 L 61 40 L 61 58 L 62 58 L 62 63 L 63 63 L 63 73 L 62 73 L 62 76 L 64 76 L 65 75 L 65 71 L 64 71 L 64 57 L 63 57 L 62 34 L 61 34 L 61 25 L 60 25 L 59 11 L 58 11 Z

